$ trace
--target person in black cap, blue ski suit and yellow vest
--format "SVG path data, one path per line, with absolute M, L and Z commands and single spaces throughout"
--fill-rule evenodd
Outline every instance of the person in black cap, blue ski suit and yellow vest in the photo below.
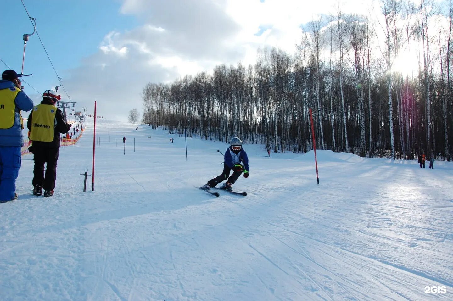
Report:
M 23 120 L 20 111 L 33 108 L 14 70 L 5 70 L 0 81 L 0 202 L 17 199 L 16 179 L 21 164 Z

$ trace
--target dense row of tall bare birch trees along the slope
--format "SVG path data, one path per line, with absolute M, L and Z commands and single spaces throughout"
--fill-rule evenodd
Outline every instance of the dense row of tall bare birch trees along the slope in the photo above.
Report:
M 238 136 L 274 152 L 307 152 L 312 108 L 318 148 L 450 160 L 453 5 L 448 0 L 448 26 L 433 34 L 434 4 L 420 0 L 403 11 L 400 1 L 380 0 L 379 22 L 338 10 L 307 24 L 294 55 L 266 48 L 255 65 L 222 64 L 212 74 L 149 83 L 142 122 L 224 142 Z M 423 56 L 413 62 L 417 74 L 405 76 L 393 65 L 415 43 Z

